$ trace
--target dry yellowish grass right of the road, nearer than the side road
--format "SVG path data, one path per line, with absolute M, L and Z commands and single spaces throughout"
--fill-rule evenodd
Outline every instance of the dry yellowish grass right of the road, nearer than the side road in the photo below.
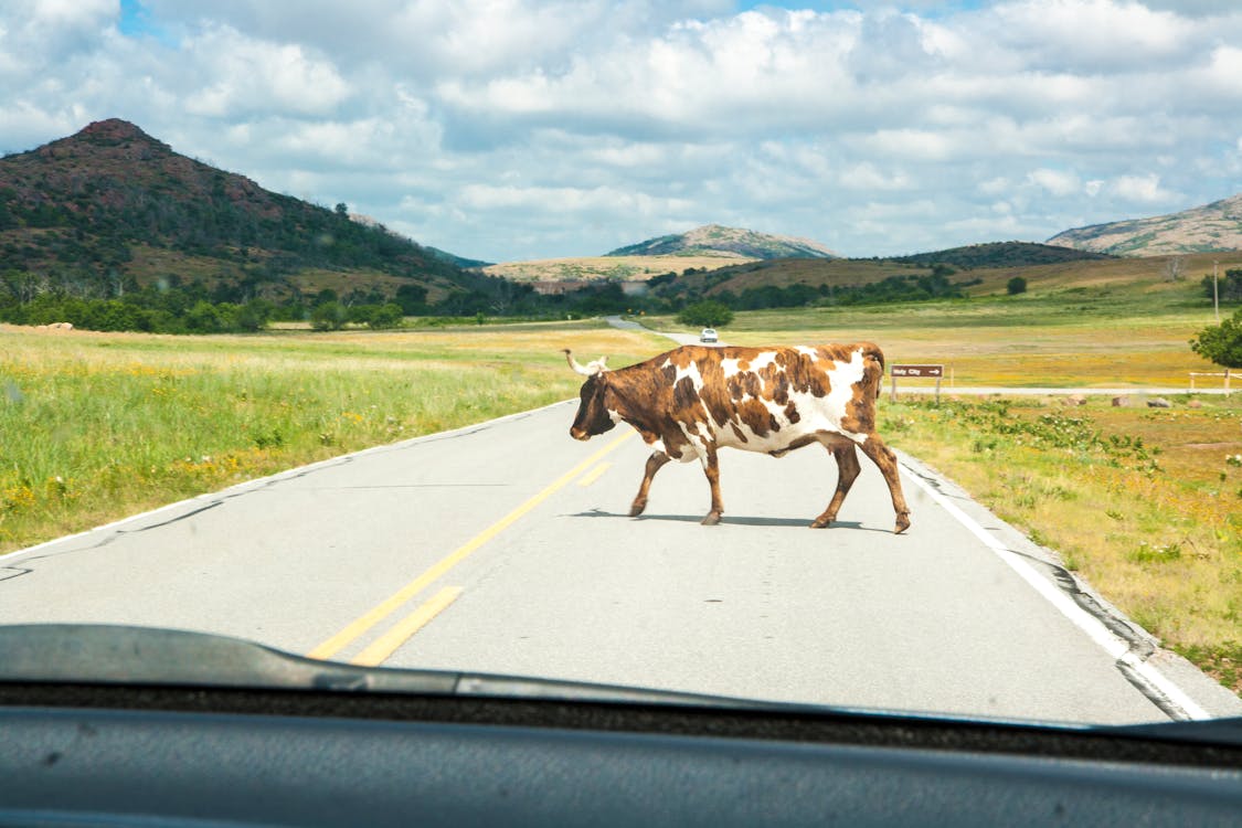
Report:
M 1242 396 L 1202 408 L 1067 408 L 1059 400 L 882 406 L 888 439 L 1057 550 L 1166 646 L 1242 693 Z M 1067 444 L 1038 423 L 1079 421 Z M 969 428 L 963 423 L 969 422 Z M 1136 452 L 1092 444 L 1141 441 Z M 1153 466 L 1154 464 L 1154 466 Z

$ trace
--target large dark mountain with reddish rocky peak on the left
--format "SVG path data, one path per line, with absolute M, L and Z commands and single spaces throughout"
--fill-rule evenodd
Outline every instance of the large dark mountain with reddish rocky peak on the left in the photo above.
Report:
M 374 222 L 265 190 L 109 119 L 0 159 L 0 269 L 73 295 L 201 281 L 287 298 L 330 286 L 443 295 L 469 277 Z

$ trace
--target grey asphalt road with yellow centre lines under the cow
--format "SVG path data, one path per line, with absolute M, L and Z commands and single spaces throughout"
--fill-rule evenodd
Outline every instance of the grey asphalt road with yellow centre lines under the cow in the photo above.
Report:
M 631 519 L 647 449 L 626 427 L 573 441 L 574 405 L 0 557 L 0 623 L 175 627 L 359 663 L 1007 719 L 1242 713 L 909 458 L 903 535 L 866 459 L 840 523 L 807 528 L 836 480 L 817 447 L 723 452 L 719 526 L 698 523 L 697 463 L 666 467 Z

